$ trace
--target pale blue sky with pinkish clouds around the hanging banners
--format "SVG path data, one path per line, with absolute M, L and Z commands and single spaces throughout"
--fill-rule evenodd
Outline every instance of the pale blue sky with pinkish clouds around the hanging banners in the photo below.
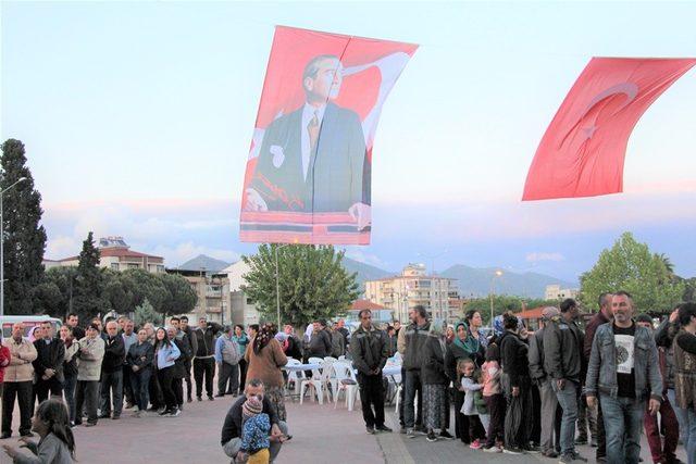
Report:
M 696 71 L 630 138 L 624 192 L 521 202 L 592 57 L 696 57 L 696 2 L 0 3 L 0 137 L 42 196 L 46 256 L 89 230 L 176 266 L 234 261 L 274 25 L 419 43 L 373 149 L 373 233 L 347 255 L 574 280 L 621 233 L 696 275 Z M 435 256 L 435 258 L 433 258 Z

